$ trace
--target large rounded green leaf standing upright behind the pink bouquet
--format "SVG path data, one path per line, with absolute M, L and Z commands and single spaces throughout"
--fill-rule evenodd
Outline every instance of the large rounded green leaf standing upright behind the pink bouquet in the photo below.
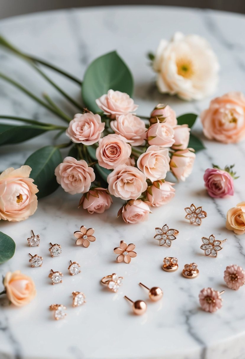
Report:
M 133 77 L 124 61 L 116 51 L 98 57 L 87 68 L 82 84 L 82 98 L 90 111 L 101 111 L 95 100 L 108 90 L 133 94 Z

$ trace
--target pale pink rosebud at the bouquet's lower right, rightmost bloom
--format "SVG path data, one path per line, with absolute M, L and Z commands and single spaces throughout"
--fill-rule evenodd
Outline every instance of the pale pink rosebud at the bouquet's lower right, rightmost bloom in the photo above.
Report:
M 190 176 L 196 155 L 189 149 L 176 151 L 170 160 L 170 169 L 178 180 L 185 181 Z

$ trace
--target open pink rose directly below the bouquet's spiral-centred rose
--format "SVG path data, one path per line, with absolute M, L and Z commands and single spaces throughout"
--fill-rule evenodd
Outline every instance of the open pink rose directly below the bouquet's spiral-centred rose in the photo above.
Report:
M 147 188 L 146 177 L 138 168 L 121 164 L 107 177 L 108 190 L 123 200 L 136 200 Z

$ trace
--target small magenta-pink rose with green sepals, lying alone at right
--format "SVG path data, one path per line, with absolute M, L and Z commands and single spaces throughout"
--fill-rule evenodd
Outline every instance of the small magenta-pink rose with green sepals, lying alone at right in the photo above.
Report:
M 234 183 L 230 173 L 217 168 L 208 168 L 204 173 L 205 187 L 214 198 L 234 195 Z

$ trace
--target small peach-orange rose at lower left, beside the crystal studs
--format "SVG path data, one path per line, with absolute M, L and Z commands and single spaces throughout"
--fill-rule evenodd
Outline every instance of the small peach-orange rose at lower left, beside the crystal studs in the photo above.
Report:
M 36 288 L 33 280 L 19 270 L 8 272 L 3 280 L 6 295 L 15 306 L 22 307 L 36 296 Z

